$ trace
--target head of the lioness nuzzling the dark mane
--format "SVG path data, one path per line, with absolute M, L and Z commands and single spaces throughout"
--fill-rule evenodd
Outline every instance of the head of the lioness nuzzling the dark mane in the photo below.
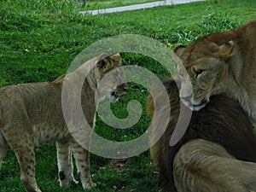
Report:
M 233 47 L 233 41 L 216 43 L 207 37 L 199 38 L 188 47 L 176 45 L 173 59 L 177 61 L 177 74 L 182 81 L 181 101 L 186 106 L 201 110 L 210 96 L 225 92 Z

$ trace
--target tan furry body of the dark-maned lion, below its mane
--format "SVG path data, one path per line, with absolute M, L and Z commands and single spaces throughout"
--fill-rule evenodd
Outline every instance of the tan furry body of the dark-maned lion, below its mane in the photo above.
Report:
M 236 160 L 203 139 L 183 144 L 173 160 L 178 192 L 248 192 L 256 189 L 256 163 Z

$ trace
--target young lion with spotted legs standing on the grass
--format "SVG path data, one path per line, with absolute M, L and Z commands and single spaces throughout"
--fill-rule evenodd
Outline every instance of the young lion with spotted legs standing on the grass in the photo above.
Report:
M 56 142 L 60 185 L 77 183 L 73 177 L 72 154 L 76 160 L 79 179 L 84 189 L 95 186 L 90 178 L 89 152 L 75 141 L 67 129 L 61 109 L 61 88 L 64 82 L 75 83 L 83 79 L 81 90 L 82 108 L 90 127 L 96 115 L 96 87 L 109 71 L 115 75 L 104 82 L 102 92 L 112 102 L 125 96 L 127 84 L 119 68 L 119 54 L 102 54 L 86 61 L 78 69 L 62 75 L 53 82 L 17 84 L 0 89 L 0 168 L 6 155 L 7 144 L 15 151 L 20 164 L 20 179 L 26 191 L 39 192 L 35 178 L 34 145 Z M 116 87 L 117 82 L 119 86 Z M 123 83 L 122 83 L 123 82 Z M 73 93 L 70 93 L 73 94 Z M 72 101 L 70 101 L 72 102 Z M 82 136 L 83 137 L 83 136 Z M 84 136 L 84 138 L 88 136 Z

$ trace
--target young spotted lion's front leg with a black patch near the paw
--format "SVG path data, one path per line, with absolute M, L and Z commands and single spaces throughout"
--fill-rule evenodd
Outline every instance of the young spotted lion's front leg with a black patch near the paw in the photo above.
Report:
M 73 178 L 73 159 L 70 149 L 70 143 L 56 142 L 56 148 L 61 187 L 69 187 L 72 184 L 78 183 Z

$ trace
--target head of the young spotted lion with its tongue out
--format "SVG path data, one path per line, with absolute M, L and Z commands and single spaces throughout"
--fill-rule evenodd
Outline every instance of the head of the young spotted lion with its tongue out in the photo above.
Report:
M 103 53 L 97 59 L 98 94 L 107 96 L 110 102 L 116 102 L 119 97 L 125 96 L 128 89 L 123 71 L 120 68 L 121 64 L 119 53 L 110 56 Z

